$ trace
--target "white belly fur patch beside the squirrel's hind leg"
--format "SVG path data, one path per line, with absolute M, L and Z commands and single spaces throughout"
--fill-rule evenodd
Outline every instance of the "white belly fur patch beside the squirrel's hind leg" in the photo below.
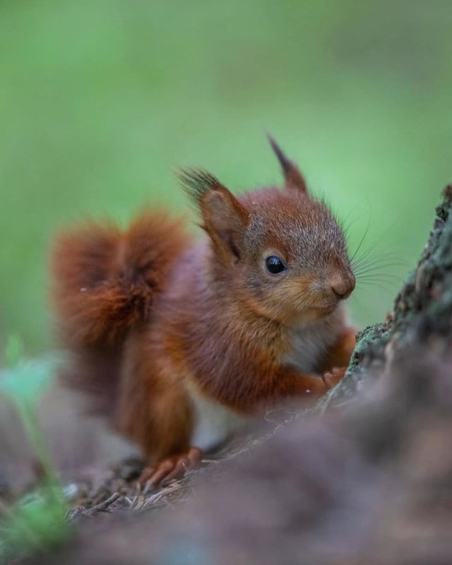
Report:
M 194 406 L 191 445 L 203 451 L 209 451 L 222 444 L 223 441 L 244 429 L 250 420 L 210 400 L 195 388 L 191 388 L 189 396 Z

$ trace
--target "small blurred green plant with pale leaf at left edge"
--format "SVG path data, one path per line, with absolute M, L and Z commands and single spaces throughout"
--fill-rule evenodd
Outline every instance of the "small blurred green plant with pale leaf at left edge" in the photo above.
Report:
M 0 507 L 0 563 L 49 549 L 68 534 L 66 504 L 37 417 L 37 400 L 52 381 L 57 356 L 25 360 L 20 340 L 11 337 L 0 370 L 0 394 L 16 406 L 42 470 L 42 484 L 11 506 Z

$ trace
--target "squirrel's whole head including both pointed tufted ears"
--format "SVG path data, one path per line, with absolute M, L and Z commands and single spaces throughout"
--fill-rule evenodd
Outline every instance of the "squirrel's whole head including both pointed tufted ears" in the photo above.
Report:
M 302 173 L 270 139 L 283 187 L 235 197 L 212 174 L 184 169 L 185 191 L 201 209 L 215 277 L 248 309 L 279 323 L 322 319 L 355 288 L 345 236 Z

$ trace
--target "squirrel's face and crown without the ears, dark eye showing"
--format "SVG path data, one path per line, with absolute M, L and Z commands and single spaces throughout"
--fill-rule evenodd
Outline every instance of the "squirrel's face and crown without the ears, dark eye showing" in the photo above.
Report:
M 343 230 L 323 203 L 295 189 L 261 189 L 240 202 L 250 215 L 234 287 L 250 306 L 299 323 L 331 314 L 350 296 L 355 276 Z

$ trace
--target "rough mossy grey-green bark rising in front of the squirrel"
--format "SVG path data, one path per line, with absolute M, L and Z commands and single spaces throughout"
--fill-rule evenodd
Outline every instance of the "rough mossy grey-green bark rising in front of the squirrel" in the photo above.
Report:
M 438 336 L 443 342 L 452 338 L 452 184 L 444 189 L 429 241 L 398 293 L 391 316 L 359 332 L 343 381 L 320 407 L 333 408 L 352 398 L 385 370 L 390 357 L 417 345 L 428 347 Z

